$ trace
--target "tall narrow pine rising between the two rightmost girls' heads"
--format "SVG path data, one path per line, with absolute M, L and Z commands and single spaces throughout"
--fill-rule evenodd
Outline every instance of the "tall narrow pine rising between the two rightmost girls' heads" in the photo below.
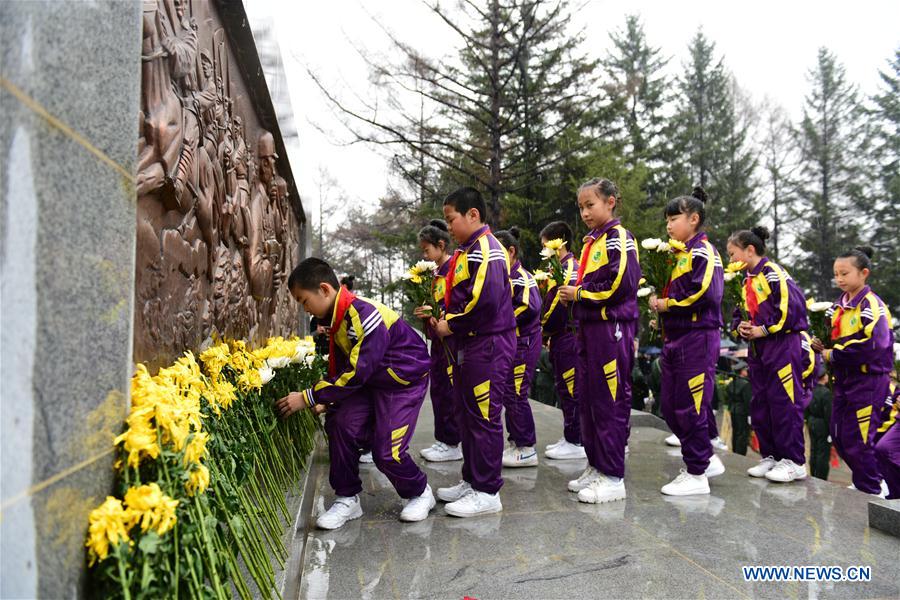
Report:
M 831 298 L 834 257 L 858 242 L 865 199 L 866 129 L 856 87 L 827 48 L 809 72 L 799 129 L 800 188 L 791 206 L 798 246 L 794 271 L 819 298 Z

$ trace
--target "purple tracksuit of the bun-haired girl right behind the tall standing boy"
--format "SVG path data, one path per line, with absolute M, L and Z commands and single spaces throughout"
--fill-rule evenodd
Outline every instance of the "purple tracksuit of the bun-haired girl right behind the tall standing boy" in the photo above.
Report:
M 516 355 L 503 395 L 503 408 L 508 439 L 522 448 L 537 442 L 528 392 L 541 357 L 541 296 L 534 277 L 518 260 L 510 269 L 510 284 L 516 317 Z

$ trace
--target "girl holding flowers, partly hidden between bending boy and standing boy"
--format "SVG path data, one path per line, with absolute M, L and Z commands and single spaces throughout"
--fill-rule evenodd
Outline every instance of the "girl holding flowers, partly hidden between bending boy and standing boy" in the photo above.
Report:
M 419 230 L 419 248 L 422 258 L 437 266 L 434 283 L 434 300 L 440 306 L 444 302 L 447 271 L 450 268 L 450 233 L 441 219 L 433 219 Z M 459 448 L 459 429 L 453 401 L 453 367 L 447 358 L 447 350 L 430 326 L 431 307 L 419 306 L 414 313 L 425 321 L 425 332 L 431 340 L 431 407 L 434 412 L 435 442 L 419 454 L 429 462 L 462 460 Z

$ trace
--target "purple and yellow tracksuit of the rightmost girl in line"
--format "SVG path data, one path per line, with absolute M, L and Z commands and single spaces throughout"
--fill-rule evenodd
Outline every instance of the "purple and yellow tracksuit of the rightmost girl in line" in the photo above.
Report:
M 834 374 L 831 439 L 853 471 L 856 489 L 877 494 L 881 473 L 875 433 L 893 368 L 891 313 L 869 286 L 854 298 L 842 296 L 829 311 L 835 338 L 829 351 Z

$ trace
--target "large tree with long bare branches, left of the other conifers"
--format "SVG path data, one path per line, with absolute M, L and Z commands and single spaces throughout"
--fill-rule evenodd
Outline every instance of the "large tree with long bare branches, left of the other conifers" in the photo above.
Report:
M 383 28 L 400 58 L 370 60 L 374 98 L 345 100 L 309 74 L 355 141 L 397 147 L 393 166 L 420 200 L 434 192 L 429 181 L 441 169 L 456 183 L 486 189 L 498 220 L 505 192 L 590 143 L 586 136 L 568 145 L 564 133 L 596 124 L 606 92 L 595 85 L 595 63 L 580 53 L 583 35 L 570 31 L 563 1 L 463 0 L 456 10 L 426 4 L 457 36 L 454 56 L 425 56 Z

